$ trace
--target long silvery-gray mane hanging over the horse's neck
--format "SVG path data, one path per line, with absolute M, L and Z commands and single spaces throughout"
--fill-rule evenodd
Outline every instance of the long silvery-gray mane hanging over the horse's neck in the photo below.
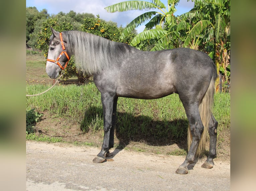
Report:
M 117 43 L 100 36 L 81 31 L 62 32 L 67 40 L 67 49 L 74 52 L 76 67 L 84 74 L 94 74 L 120 57 L 129 56 L 132 47 L 125 43 Z

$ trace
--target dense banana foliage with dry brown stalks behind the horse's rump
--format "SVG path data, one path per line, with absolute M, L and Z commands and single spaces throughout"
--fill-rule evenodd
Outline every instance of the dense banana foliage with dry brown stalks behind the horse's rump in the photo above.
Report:
M 182 15 L 183 19 L 195 26 L 203 20 L 210 22 L 200 34 L 191 38 L 190 48 L 196 48 L 209 54 L 215 61 L 217 73 L 223 78 L 217 79 L 216 91 L 229 91 L 221 89 L 221 85 L 230 84 L 227 67 L 230 65 L 230 0 L 194 0 L 194 8 Z M 188 43 L 184 44 L 188 46 Z M 223 69 L 222 71 L 220 69 Z M 229 88 L 228 88 L 229 89 Z

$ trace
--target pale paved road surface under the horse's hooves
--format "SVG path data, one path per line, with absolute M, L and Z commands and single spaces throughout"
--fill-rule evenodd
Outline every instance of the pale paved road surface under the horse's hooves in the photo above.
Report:
M 194 164 L 175 174 L 184 156 L 165 156 L 113 149 L 107 162 L 92 159 L 99 148 L 26 142 L 27 191 L 90 190 L 230 190 L 230 161 L 215 160 L 212 169 Z

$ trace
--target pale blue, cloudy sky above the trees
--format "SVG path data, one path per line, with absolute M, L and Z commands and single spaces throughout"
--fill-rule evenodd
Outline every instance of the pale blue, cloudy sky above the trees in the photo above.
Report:
M 26 7 L 36 7 L 38 11 L 47 9 L 48 14 L 58 14 L 60 11 L 69 13 L 71 10 L 76 13 L 92 13 L 95 16 L 100 15 L 100 18 L 105 21 L 116 22 L 118 27 L 121 25 L 125 27 L 133 19 L 144 13 L 145 11 L 127 11 L 108 13 L 104 8 L 125 0 L 26 0 Z M 149 1 L 150 0 L 145 0 Z M 167 7 L 167 0 L 161 0 Z M 181 15 L 190 11 L 194 7 L 194 2 L 187 2 L 187 0 L 180 0 L 176 6 L 177 11 L 174 15 Z M 152 10 L 150 10 L 152 11 Z M 145 23 L 146 24 L 146 23 Z M 137 32 L 144 30 L 145 26 L 138 26 Z

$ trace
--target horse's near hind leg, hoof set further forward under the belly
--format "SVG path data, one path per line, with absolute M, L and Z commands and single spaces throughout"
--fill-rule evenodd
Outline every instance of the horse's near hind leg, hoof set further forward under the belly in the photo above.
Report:
M 201 117 L 199 114 L 198 104 L 184 104 L 184 108 L 186 111 L 187 119 L 190 125 L 190 130 L 192 134 L 192 143 L 187 153 L 185 161 L 178 167 L 176 170 L 177 174 L 187 174 L 188 168 L 187 166 L 194 162 L 197 147 L 199 141 L 201 139 L 201 135 L 204 131 L 204 125 L 201 121 Z

